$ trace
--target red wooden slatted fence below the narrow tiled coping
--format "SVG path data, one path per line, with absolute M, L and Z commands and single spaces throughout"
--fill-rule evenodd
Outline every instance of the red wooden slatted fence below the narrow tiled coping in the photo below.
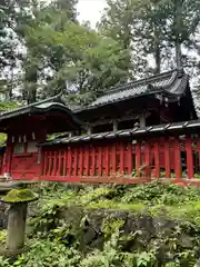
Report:
M 200 137 L 192 135 L 42 148 L 43 180 L 137 184 L 167 178 L 198 184 L 199 174 Z

